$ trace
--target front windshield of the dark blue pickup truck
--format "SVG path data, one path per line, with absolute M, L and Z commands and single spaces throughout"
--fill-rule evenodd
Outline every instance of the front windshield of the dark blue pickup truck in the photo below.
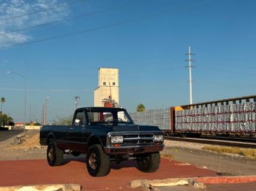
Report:
M 126 111 L 88 111 L 87 114 L 91 125 L 133 123 Z

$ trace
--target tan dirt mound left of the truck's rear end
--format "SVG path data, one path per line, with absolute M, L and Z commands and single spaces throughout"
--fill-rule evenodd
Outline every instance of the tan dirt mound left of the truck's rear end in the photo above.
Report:
M 25 137 L 21 144 L 10 146 L 9 148 L 40 148 L 39 134 L 32 137 Z

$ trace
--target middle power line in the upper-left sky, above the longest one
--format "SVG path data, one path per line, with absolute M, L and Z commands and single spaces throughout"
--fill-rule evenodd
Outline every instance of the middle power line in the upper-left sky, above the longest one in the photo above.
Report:
M 68 21 L 68 20 L 80 19 L 82 17 L 87 17 L 87 16 L 91 16 L 91 15 L 94 15 L 94 14 L 105 13 L 106 11 L 116 10 L 120 7 L 127 7 L 129 5 L 136 4 L 137 2 L 139 2 L 139 1 L 135 1 L 132 4 L 121 5 L 121 6 L 118 6 L 118 7 L 115 7 L 115 8 L 109 8 L 109 9 L 105 9 L 105 10 L 94 11 L 92 13 L 82 14 L 82 15 L 76 16 L 76 17 L 70 17 L 70 18 L 67 18 L 67 19 L 56 20 L 56 21 L 49 22 L 49 23 L 44 23 L 44 24 L 41 24 L 41 25 L 28 26 L 28 27 L 22 28 L 22 29 L 15 29 L 13 31 L 2 32 L 2 33 L 0 33 L 0 35 L 9 34 L 9 33 L 12 33 L 12 32 L 24 31 L 24 30 L 28 30 L 28 29 L 34 29 L 34 28 L 38 28 L 38 27 L 42 27 L 42 26 L 52 25 L 52 24 L 55 24 L 55 23 L 65 22 L 65 21 Z

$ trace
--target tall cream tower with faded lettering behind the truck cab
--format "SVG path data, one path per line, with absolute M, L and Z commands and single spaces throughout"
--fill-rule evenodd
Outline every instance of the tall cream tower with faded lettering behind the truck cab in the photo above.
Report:
M 94 90 L 95 107 L 118 107 L 119 69 L 99 68 L 99 85 Z

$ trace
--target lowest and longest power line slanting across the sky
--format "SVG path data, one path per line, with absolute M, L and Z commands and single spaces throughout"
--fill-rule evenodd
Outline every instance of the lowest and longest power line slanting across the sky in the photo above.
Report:
M 212 1 L 212 0 L 201 1 L 201 2 L 198 2 L 198 3 L 195 3 L 195 4 L 187 5 L 185 7 L 194 7 L 195 5 L 200 5 L 200 4 L 203 4 L 205 2 L 210 2 L 210 1 Z M 144 19 L 148 19 L 150 17 L 166 14 L 169 11 L 173 11 L 173 10 L 178 10 L 178 8 L 173 8 L 171 10 L 166 10 L 166 11 L 163 11 L 162 13 L 158 13 L 158 14 L 150 14 L 150 15 L 141 17 L 139 19 L 124 20 L 123 22 L 118 22 L 118 23 L 114 23 L 114 24 L 111 24 L 111 25 L 100 26 L 100 27 L 94 28 L 94 29 L 86 29 L 84 31 L 73 32 L 73 33 L 66 34 L 66 35 L 59 35 L 59 36 L 52 37 L 52 38 L 44 38 L 44 39 L 41 39 L 41 40 L 29 41 L 27 43 L 15 44 L 13 46 L 1 47 L 0 50 L 6 49 L 6 48 L 19 47 L 19 46 L 23 46 L 23 45 L 26 45 L 26 44 L 40 43 L 40 42 L 43 42 L 43 41 L 50 41 L 50 40 L 55 40 L 55 39 L 59 39 L 59 38 L 66 38 L 66 37 L 70 37 L 70 36 L 73 36 L 73 35 L 84 34 L 84 33 L 87 33 L 87 32 L 99 31 L 101 29 L 112 28 L 112 27 L 124 25 L 124 24 L 127 24 L 127 23 L 134 23 L 134 22 L 137 22 L 139 20 L 144 20 Z

